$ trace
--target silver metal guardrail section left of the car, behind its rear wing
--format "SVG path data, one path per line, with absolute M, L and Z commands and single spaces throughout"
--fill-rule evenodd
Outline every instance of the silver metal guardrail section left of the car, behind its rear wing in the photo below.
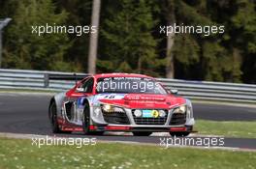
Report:
M 54 77 L 58 74 L 66 76 L 74 75 L 71 72 L 60 71 L 0 69 L 0 88 L 63 91 L 75 85 L 75 80 L 55 80 Z M 76 75 L 84 75 L 85 77 L 87 74 L 76 73 Z

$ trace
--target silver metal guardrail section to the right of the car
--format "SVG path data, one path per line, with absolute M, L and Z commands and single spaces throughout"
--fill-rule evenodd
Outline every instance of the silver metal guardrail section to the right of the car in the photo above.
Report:
M 159 78 L 164 86 L 176 88 L 189 99 L 215 100 L 256 104 L 256 85 Z

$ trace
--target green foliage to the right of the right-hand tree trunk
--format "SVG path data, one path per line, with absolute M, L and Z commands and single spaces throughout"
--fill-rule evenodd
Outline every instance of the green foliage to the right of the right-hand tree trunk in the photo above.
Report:
M 166 8 L 166 7 L 163 7 Z M 195 77 L 190 71 L 199 67 L 197 79 L 240 82 L 242 63 L 248 52 L 254 52 L 255 5 L 249 0 L 175 1 L 176 22 L 181 25 L 224 25 L 223 35 L 177 35 L 173 48 L 178 70 L 183 77 Z M 250 58 L 255 60 L 255 58 Z M 250 68 L 249 70 L 255 70 Z M 176 74 L 180 74 L 177 71 Z

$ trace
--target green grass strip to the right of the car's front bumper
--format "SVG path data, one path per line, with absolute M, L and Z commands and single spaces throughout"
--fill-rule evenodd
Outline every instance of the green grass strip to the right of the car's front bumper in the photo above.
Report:
M 197 120 L 195 130 L 198 130 L 199 134 L 256 138 L 255 122 L 215 122 Z

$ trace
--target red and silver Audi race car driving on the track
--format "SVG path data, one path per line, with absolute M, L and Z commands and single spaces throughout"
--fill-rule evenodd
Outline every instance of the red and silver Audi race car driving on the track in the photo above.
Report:
M 167 90 L 153 77 L 135 73 L 88 75 L 50 99 L 53 133 L 130 131 L 147 136 L 170 132 L 186 136 L 195 124 L 189 99 Z

